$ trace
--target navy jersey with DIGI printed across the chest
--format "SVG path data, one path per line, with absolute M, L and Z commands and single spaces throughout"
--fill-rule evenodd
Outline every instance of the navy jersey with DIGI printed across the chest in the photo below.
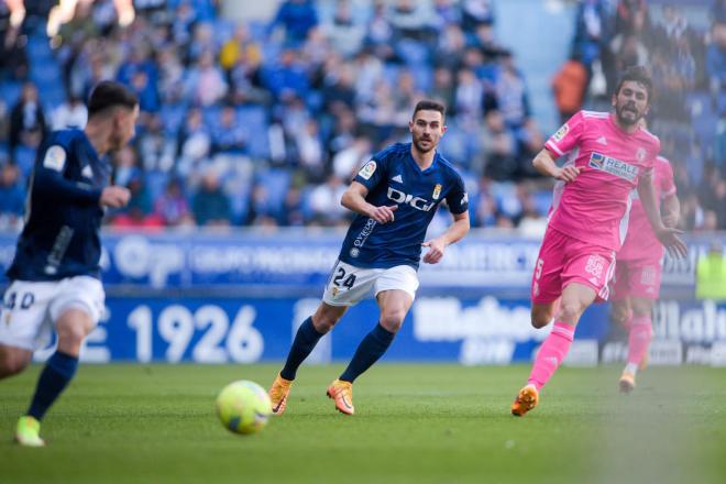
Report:
M 393 222 L 381 224 L 370 217 L 355 217 L 339 257 L 356 267 L 418 268 L 421 243 L 439 204 L 447 200 L 452 213 L 469 209 L 464 183 L 453 166 L 436 153 L 431 166 L 421 170 L 411 156 L 410 143 L 394 144 L 377 153 L 361 168 L 355 182 L 369 189 L 369 204 L 398 206 Z

